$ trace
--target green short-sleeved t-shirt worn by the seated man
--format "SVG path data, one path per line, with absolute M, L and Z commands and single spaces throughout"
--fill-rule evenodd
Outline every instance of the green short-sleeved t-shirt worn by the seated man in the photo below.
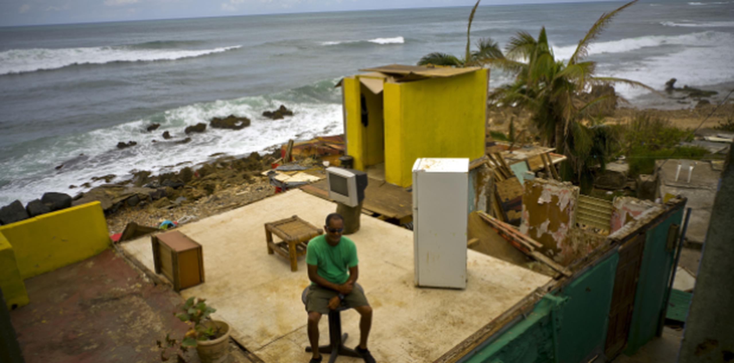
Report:
M 349 238 L 342 236 L 336 246 L 326 241 L 326 235 L 317 235 L 308 241 L 306 263 L 319 266 L 319 276 L 329 282 L 344 284 L 349 279 L 349 268 L 358 262 L 357 246 Z

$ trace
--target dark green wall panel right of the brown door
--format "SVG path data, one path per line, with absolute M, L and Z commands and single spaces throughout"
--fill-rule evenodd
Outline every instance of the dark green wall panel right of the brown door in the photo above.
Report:
M 670 224 L 680 225 L 681 219 L 683 208 L 647 230 L 625 354 L 635 353 L 657 333 L 664 308 L 665 289 L 673 265 L 674 250 L 666 250 L 668 230 Z

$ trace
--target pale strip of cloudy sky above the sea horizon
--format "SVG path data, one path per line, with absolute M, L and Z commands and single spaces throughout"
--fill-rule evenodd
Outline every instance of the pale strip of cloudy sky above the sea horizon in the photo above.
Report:
M 481 4 L 517 2 L 520 1 L 484 0 Z M 521 2 L 548 3 L 559 0 Z M 474 0 L 0 0 L 0 26 L 473 4 Z

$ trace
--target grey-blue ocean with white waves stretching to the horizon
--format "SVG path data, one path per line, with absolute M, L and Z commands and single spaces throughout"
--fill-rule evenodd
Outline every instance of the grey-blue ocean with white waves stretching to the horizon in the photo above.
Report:
M 517 31 L 537 36 L 545 26 L 563 58 L 603 12 L 621 4 L 480 6 L 471 35 L 504 45 Z M 415 64 L 433 51 L 462 55 L 469 12 L 440 7 L 1 27 L 0 205 L 104 183 L 92 177 L 114 174 L 117 182 L 140 170 L 195 167 L 216 153 L 247 155 L 288 139 L 342 133 L 341 89 L 334 87 L 341 77 Z M 598 75 L 657 89 L 669 78 L 677 78 L 677 87 L 730 84 L 733 19 L 734 1 L 640 2 L 614 18 L 589 59 L 599 62 Z M 509 79 L 493 71 L 490 87 Z M 655 106 L 644 89 L 618 91 L 635 106 Z M 261 116 L 281 104 L 294 116 Z M 186 137 L 187 125 L 229 114 L 249 117 L 252 125 L 208 128 L 189 135 L 187 144 L 172 142 Z M 145 131 L 153 123 L 160 128 Z M 164 131 L 172 141 L 162 139 Z M 137 145 L 117 149 L 129 141 Z

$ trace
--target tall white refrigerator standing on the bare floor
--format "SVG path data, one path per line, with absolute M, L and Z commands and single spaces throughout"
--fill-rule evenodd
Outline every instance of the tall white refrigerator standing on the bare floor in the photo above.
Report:
M 469 159 L 413 164 L 415 285 L 466 287 Z

